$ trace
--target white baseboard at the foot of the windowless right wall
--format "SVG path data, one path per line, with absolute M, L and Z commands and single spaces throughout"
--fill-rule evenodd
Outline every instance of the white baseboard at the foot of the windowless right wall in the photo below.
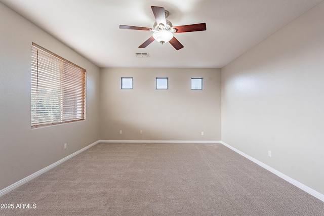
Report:
M 286 176 L 285 174 L 282 174 L 281 172 L 279 172 L 278 170 L 272 168 L 271 166 L 268 166 L 267 164 L 265 164 L 265 163 L 263 163 L 263 162 L 255 159 L 255 158 L 251 157 L 250 155 L 247 155 L 246 153 L 243 153 L 243 152 L 239 151 L 238 149 L 235 149 L 234 147 L 228 145 L 227 143 L 225 143 L 223 141 L 221 141 L 221 144 L 223 144 L 224 146 L 230 148 L 231 150 L 235 151 L 236 153 L 238 153 L 238 154 L 246 157 L 247 159 L 255 162 L 259 166 L 261 166 L 261 167 L 269 170 L 270 172 L 272 172 L 273 174 L 277 175 L 281 179 L 286 180 L 287 182 L 295 185 L 296 187 L 300 188 L 301 190 L 309 193 L 310 195 L 312 195 L 312 196 L 316 197 L 317 199 L 319 199 L 319 200 L 321 200 L 321 201 L 324 202 L 324 195 L 323 194 L 315 191 L 314 189 L 311 189 L 311 188 L 307 187 L 306 185 L 304 185 L 304 184 L 302 184 L 302 183 L 300 183 L 300 182 L 298 182 L 298 181 L 290 178 L 289 176 Z

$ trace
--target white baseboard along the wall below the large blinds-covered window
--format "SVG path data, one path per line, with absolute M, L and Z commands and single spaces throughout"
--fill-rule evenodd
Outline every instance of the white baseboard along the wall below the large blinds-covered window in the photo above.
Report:
M 10 186 L 8 186 L 8 187 L 0 190 L 0 197 L 3 196 L 3 195 L 5 195 L 5 194 L 7 194 L 7 193 L 9 193 L 12 190 L 18 188 L 19 186 L 21 186 L 21 185 L 29 182 L 30 180 L 36 178 L 37 176 L 40 176 L 40 175 L 44 174 L 44 172 L 46 172 L 46 171 L 54 168 L 55 166 L 63 163 L 64 161 L 66 161 L 66 160 L 74 157 L 75 155 L 77 155 L 77 154 L 79 154 L 79 153 L 81 153 L 81 152 L 89 149 L 90 147 L 92 147 L 92 146 L 94 146 L 94 145 L 96 145 L 98 143 L 99 143 L 99 140 L 96 141 L 96 142 L 94 142 L 94 143 L 92 143 L 92 144 L 90 144 L 89 146 L 86 146 L 86 147 L 84 147 L 84 148 L 82 148 L 82 149 L 80 149 L 80 150 L 78 150 L 78 151 L 76 151 L 76 152 L 74 152 L 74 153 L 72 153 L 72 154 L 70 154 L 70 155 L 62 158 L 61 160 L 56 161 L 55 163 L 52 163 L 51 165 L 49 165 L 49 166 L 47 166 L 47 167 L 45 167 L 45 168 L 43 168 L 41 170 L 38 170 L 38 171 L 34 172 L 30 176 L 27 176 L 26 178 L 24 178 L 22 180 L 19 180 L 18 182 L 16 182 L 16 183 L 14 183 L 14 184 L 12 184 L 12 185 L 10 185 Z

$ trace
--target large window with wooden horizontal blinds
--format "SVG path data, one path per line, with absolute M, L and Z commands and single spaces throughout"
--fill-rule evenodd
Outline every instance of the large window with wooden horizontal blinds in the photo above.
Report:
M 86 118 L 86 70 L 32 43 L 31 128 Z

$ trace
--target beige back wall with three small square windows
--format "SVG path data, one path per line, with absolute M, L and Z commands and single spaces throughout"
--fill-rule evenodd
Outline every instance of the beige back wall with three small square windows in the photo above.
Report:
M 134 89 L 120 90 L 120 77 L 133 77 Z M 169 89 L 155 90 L 156 77 Z M 204 90 L 190 90 L 191 77 L 203 77 Z M 101 140 L 220 141 L 220 127 L 220 69 L 101 69 Z

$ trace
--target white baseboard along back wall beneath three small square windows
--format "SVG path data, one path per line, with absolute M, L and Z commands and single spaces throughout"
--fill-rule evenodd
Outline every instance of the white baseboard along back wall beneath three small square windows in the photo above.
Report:
M 221 141 L 213 140 L 99 140 L 99 143 L 218 143 Z

